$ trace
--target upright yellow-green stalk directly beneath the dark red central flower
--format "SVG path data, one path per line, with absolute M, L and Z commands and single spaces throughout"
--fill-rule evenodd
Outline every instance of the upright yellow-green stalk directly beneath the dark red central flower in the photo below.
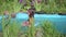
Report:
M 34 17 L 30 18 L 29 37 L 35 37 Z

